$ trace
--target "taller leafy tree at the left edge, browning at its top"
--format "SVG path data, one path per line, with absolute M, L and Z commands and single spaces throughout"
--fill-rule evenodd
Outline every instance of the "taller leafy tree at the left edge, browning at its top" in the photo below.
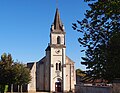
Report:
M 1 92 L 4 92 L 5 85 L 11 85 L 15 82 L 14 79 L 14 70 L 13 67 L 13 60 L 11 54 L 4 53 L 1 56 L 0 60 L 0 85 L 1 85 Z

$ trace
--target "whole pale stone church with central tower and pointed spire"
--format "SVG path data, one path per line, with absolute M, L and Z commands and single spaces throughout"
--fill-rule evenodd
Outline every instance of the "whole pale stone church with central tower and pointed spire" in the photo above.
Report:
M 32 80 L 27 85 L 29 93 L 70 92 L 75 90 L 75 62 L 66 56 L 65 28 L 56 9 L 50 28 L 50 43 L 46 55 L 38 62 L 27 63 Z

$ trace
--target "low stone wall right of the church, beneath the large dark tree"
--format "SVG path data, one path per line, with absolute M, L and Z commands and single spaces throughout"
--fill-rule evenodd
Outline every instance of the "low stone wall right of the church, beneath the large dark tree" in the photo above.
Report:
M 76 85 L 75 93 L 112 93 L 110 86 L 82 86 Z

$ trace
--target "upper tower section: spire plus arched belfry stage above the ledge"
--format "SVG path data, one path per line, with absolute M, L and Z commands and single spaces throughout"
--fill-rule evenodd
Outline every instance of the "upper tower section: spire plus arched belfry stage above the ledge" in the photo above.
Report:
M 54 22 L 51 26 L 50 45 L 65 47 L 65 29 L 60 20 L 58 8 L 56 9 Z

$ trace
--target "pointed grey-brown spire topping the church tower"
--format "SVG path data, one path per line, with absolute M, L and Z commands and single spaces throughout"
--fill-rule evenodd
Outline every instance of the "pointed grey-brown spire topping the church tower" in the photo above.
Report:
M 52 30 L 53 29 L 56 30 L 55 32 L 64 31 L 63 24 L 60 20 L 60 14 L 59 14 L 58 8 L 56 9 L 54 23 L 52 25 Z

